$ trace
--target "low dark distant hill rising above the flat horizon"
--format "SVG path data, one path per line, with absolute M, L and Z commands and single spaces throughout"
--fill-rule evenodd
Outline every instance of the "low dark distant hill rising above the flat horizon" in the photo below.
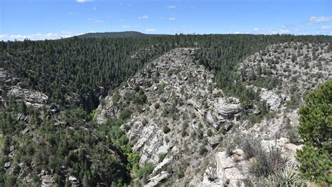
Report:
M 144 34 L 141 32 L 95 32 L 76 36 L 78 38 L 142 38 L 148 36 L 164 36 L 165 34 Z

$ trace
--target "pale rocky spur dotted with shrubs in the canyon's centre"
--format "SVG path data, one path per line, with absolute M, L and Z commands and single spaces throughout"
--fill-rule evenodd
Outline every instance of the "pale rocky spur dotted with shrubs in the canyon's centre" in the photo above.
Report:
M 213 75 L 197 62 L 199 53 L 196 48 L 177 48 L 162 55 L 118 90 L 119 99 L 110 95 L 98 108 L 99 123 L 132 111 L 123 128 L 130 127 L 126 134 L 134 144 L 133 151 L 141 154 L 140 166 L 146 162 L 156 165 L 156 176 L 148 185 L 202 172 L 208 158 L 202 155 L 212 152 L 222 140 L 222 134 L 214 132 L 230 130 L 242 111 L 238 99 L 223 97 L 222 90 L 215 88 Z M 137 104 L 139 95 L 145 95 L 146 102 Z M 158 163 L 161 154 L 166 158 Z M 184 177 L 179 183 L 190 180 Z

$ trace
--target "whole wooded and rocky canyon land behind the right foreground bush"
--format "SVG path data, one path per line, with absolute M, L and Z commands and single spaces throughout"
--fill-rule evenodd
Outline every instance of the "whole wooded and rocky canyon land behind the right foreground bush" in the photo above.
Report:
M 0 42 L 0 186 L 268 182 L 297 164 L 298 109 L 332 78 L 331 42 L 249 34 Z M 268 154 L 275 166 L 253 172 Z

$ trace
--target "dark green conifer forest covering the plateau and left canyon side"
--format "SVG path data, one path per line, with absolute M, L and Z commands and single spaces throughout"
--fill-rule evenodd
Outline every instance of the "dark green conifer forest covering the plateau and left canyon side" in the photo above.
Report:
M 146 179 L 153 166 L 139 167 L 139 153 L 132 152 L 132 145 L 120 128 L 130 118 L 130 111 L 124 110 L 118 118 L 97 125 L 94 109 L 102 102 L 100 95 L 113 92 L 146 63 L 174 48 L 200 48 L 198 59 L 214 74 L 216 85 L 226 95 L 238 97 L 250 106 L 251 102 L 261 102 L 258 93 L 247 89 L 237 72 L 237 65 L 245 57 L 272 43 L 332 42 L 332 36 L 99 36 L 0 42 L 0 67 L 21 78 L 23 88 L 45 93 L 49 102 L 60 109 L 36 109 L 11 98 L 4 103 L 0 113 L 0 147 L 4 154 L 0 160 L 0 186 L 22 185 L 18 179 L 22 169 L 32 174 L 29 183 L 37 185 L 42 172 L 53 174 L 60 186 L 70 185 L 69 175 L 76 176 L 83 186 L 123 186 Z M 102 92 L 101 88 L 105 92 L 96 95 L 95 92 Z M 93 97 L 97 97 L 96 104 L 83 103 Z M 29 122 L 18 115 L 29 116 Z M 8 162 L 13 167 L 11 174 L 5 174 L 2 167 Z

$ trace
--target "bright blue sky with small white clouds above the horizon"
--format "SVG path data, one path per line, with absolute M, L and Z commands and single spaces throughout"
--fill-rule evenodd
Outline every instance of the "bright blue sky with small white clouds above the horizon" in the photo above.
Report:
M 332 0 L 0 0 L 0 41 L 123 31 L 332 35 Z

